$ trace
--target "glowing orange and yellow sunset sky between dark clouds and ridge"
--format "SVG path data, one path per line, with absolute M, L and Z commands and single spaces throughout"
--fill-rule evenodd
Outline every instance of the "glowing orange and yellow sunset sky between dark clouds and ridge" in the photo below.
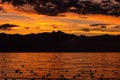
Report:
M 60 13 L 58 16 L 47 16 L 37 14 L 28 5 L 16 8 L 11 4 L 4 3 L 0 6 L 5 9 L 0 11 L 0 25 L 18 25 L 9 30 L 0 28 L 0 33 L 29 34 L 61 30 L 76 35 L 120 34 L 120 17 L 118 16 L 78 15 L 72 12 Z

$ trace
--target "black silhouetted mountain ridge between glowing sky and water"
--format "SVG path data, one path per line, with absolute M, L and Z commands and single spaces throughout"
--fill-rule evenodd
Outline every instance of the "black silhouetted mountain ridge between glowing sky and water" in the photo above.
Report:
M 120 35 L 0 34 L 1 52 L 120 52 Z

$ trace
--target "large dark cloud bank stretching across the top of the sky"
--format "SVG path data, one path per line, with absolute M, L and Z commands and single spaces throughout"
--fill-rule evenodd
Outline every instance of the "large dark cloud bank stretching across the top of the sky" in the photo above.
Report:
M 116 0 L 119 2 L 119 0 Z M 102 7 L 102 3 L 95 3 L 89 0 L 2 0 L 2 3 L 8 2 L 15 7 L 24 5 L 33 6 L 38 14 L 56 16 L 59 13 L 75 12 L 78 14 L 111 14 L 120 15 L 120 6 L 116 5 Z M 111 2 L 111 1 L 108 1 Z M 111 2 L 112 3 L 112 2 Z M 114 11 L 111 11 L 113 10 Z

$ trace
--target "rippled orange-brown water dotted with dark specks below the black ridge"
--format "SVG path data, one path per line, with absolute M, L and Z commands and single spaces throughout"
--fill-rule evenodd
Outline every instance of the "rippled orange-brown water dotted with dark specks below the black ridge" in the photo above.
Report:
M 0 80 L 120 80 L 120 54 L 0 53 Z

